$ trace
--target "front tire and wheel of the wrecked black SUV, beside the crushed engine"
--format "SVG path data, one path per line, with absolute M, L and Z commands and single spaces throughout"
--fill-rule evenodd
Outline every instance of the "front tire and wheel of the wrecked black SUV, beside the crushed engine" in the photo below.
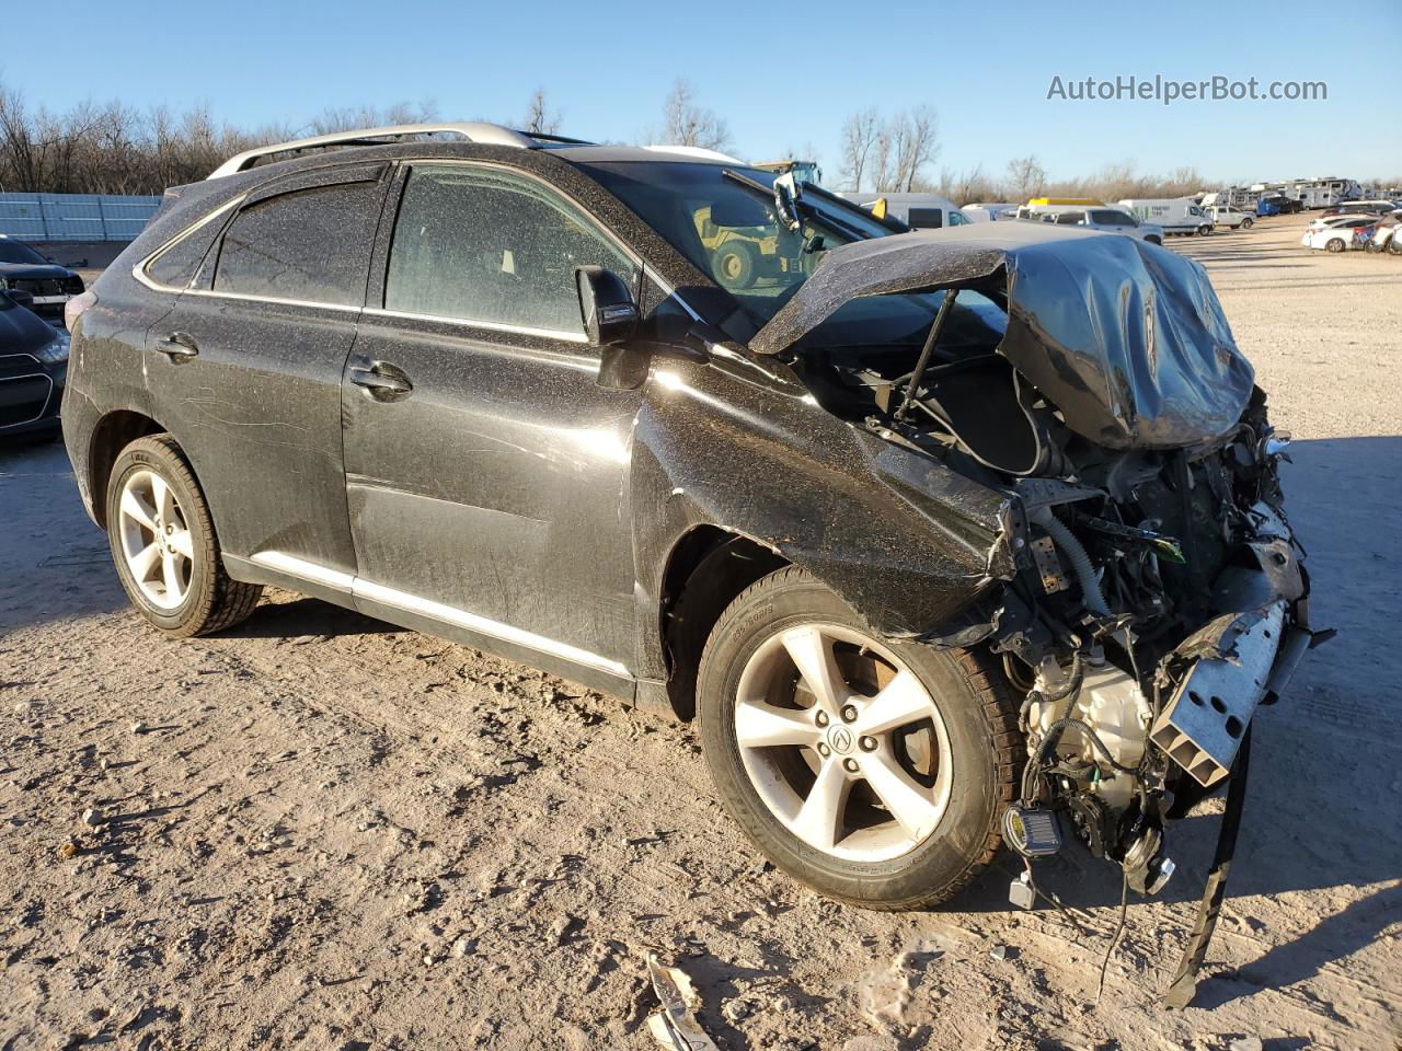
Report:
M 809 677 L 795 674 L 788 642 L 815 635 L 827 638 L 827 647 L 815 652 L 841 661 L 837 670 L 848 688 L 858 684 L 826 719 L 819 715 L 824 708 L 820 691 L 808 687 Z M 872 696 L 900 673 L 908 677 L 894 696 L 928 702 L 934 716 L 901 715 L 907 722 L 892 720 L 883 730 L 868 720 L 892 709 L 878 709 Z M 761 694 L 754 692 L 757 684 L 767 684 Z M 742 702 L 742 685 L 746 696 L 757 699 Z M 802 706 L 805 698 L 808 706 Z M 782 731 L 798 727 L 803 743 L 771 746 L 761 733 L 760 747 L 753 747 L 754 736 L 746 737 L 751 744 L 742 744 L 742 722 L 768 733 L 775 705 L 784 716 Z M 855 712 L 857 705 L 861 713 L 850 716 L 845 709 Z M 756 709 L 768 713 L 758 723 L 753 722 Z M 925 908 L 973 881 L 998 849 L 1002 811 L 1025 761 L 1016 702 L 986 656 L 886 640 L 833 591 L 792 566 L 761 577 L 721 615 L 701 657 L 697 715 L 716 793 L 751 842 L 794 879 L 871 909 Z M 865 736 L 868 727 L 879 739 Z M 897 776 L 893 792 L 889 772 L 897 767 L 904 779 Z M 841 769 L 851 776 L 836 772 Z M 803 824 L 801 804 L 817 797 L 819 783 L 833 783 L 834 776 L 843 785 L 834 807 L 837 831 L 827 837 L 830 845 L 815 845 L 812 837 L 795 831 Z M 885 796 L 875 788 L 878 781 Z M 914 796 L 899 795 L 903 786 L 914 788 Z M 777 796 L 799 804 L 791 807 L 788 820 L 767 802 Z M 897 810 L 883 806 L 885 799 L 904 802 Z M 897 821 L 896 813 L 916 816 L 917 831 Z M 822 838 L 824 823 L 816 827 Z

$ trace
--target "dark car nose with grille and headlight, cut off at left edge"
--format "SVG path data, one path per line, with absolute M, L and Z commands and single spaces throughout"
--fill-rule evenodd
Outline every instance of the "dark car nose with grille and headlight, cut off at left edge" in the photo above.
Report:
M 59 426 L 69 334 L 21 305 L 27 298 L 0 291 L 0 440 Z

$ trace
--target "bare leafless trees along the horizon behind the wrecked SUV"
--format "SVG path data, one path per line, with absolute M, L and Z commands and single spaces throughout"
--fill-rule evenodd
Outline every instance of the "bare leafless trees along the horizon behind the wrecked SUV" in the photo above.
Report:
M 690 81 L 679 78 L 660 108 L 660 123 L 638 140 L 711 150 L 733 144 L 725 118 L 701 104 Z M 135 109 L 122 102 L 80 102 L 64 112 L 31 107 L 18 90 L 0 81 L 0 191 L 48 193 L 161 193 L 205 178 L 236 153 L 275 142 L 355 128 L 437 121 L 432 102 L 387 108 L 329 108 L 303 125 L 238 128 L 219 121 L 207 107 L 182 112 L 168 107 Z M 536 90 L 520 119 L 505 121 L 537 135 L 557 135 L 562 115 L 545 91 Z M 852 112 L 841 125 L 836 189 L 878 193 L 932 192 L 959 205 L 979 200 L 1021 202 L 1030 196 L 1176 198 L 1211 188 L 1196 168 L 1141 175 L 1129 163 L 1108 164 L 1080 178 L 1052 178 L 1036 156 L 1016 157 L 1001 170 L 983 164 L 955 170 L 935 163 L 941 154 L 939 119 L 928 105 L 882 114 Z M 819 160 L 812 146 L 799 160 Z

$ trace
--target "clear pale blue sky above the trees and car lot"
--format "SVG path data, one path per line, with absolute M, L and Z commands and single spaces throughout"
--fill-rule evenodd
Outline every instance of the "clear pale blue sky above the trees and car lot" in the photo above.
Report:
M 1002 175 L 1036 154 L 1053 178 L 1129 161 L 1209 179 L 1402 175 L 1402 1 L 1345 34 L 1330 8 L 1273 0 L 1227 25 L 1217 3 L 1143 11 L 1047 3 L 93 3 L 66 8 L 59 46 L 0 50 L 31 105 L 121 98 L 205 102 L 257 126 L 327 107 L 432 101 L 444 119 L 517 122 L 541 87 L 568 135 L 634 140 L 660 123 L 680 76 L 750 160 L 816 147 L 831 177 L 847 114 L 931 105 L 935 164 Z M 1217 27 L 1217 28 L 1199 28 Z M 32 42 L 31 42 L 32 43 Z M 1117 76 L 1325 81 L 1328 101 L 1059 101 L 1064 83 Z

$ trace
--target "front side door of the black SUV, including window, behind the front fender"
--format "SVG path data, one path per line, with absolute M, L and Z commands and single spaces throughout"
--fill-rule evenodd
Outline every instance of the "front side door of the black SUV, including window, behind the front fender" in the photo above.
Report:
M 575 269 L 637 261 L 550 185 L 471 163 L 412 167 L 381 244 L 343 387 L 356 596 L 621 674 L 641 394 L 597 385 Z

